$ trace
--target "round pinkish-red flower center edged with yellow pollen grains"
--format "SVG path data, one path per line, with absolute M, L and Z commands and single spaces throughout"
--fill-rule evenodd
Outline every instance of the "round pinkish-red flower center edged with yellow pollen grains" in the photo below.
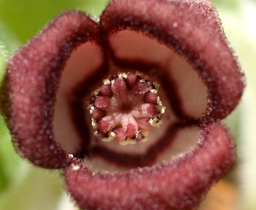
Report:
M 146 141 L 148 130 L 161 124 L 165 112 L 158 87 L 139 72 L 115 72 L 105 79 L 89 102 L 95 135 L 123 145 Z

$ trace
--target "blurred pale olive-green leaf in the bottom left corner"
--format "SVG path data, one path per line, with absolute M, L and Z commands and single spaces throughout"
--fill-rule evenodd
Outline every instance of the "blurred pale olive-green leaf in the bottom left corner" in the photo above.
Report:
M 56 210 L 63 181 L 53 171 L 22 163 L 18 176 L 0 196 L 0 209 Z

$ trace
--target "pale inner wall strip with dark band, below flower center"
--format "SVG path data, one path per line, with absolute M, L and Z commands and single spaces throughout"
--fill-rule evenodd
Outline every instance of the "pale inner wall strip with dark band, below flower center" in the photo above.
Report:
M 161 137 L 152 137 L 150 143 L 139 142 L 136 147 L 117 146 L 98 143 L 91 147 L 88 162 L 98 172 L 128 171 L 137 167 L 150 167 L 157 163 L 172 161 L 198 144 L 200 127 L 198 122 L 177 122 L 166 130 L 158 128 L 150 133 L 161 133 Z M 140 144 L 141 143 L 141 144 Z

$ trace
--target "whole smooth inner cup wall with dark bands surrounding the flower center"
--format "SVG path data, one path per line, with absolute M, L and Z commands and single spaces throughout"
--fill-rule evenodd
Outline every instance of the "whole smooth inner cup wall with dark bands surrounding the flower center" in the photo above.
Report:
M 119 31 L 105 45 L 103 52 L 96 43 L 85 43 L 70 56 L 56 97 L 56 141 L 95 171 L 152 166 L 191 150 L 207 109 L 207 87 L 198 72 L 172 49 L 136 31 Z M 117 71 L 139 71 L 160 84 L 163 124 L 150 129 L 146 142 L 122 146 L 93 135 L 86 102 L 102 79 Z

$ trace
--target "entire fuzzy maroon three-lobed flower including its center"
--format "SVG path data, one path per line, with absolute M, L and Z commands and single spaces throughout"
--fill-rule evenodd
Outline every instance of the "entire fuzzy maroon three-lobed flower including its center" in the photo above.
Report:
M 209 1 L 116 0 L 99 23 L 61 14 L 11 56 L 1 110 L 20 156 L 64 169 L 81 209 L 194 209 L 232 168 L 220 121 L 243 89 Z M 129 96 L 140 98 L 138 119 Z M 142 141 L 161 119 L 146 142 L 118 144 Z

